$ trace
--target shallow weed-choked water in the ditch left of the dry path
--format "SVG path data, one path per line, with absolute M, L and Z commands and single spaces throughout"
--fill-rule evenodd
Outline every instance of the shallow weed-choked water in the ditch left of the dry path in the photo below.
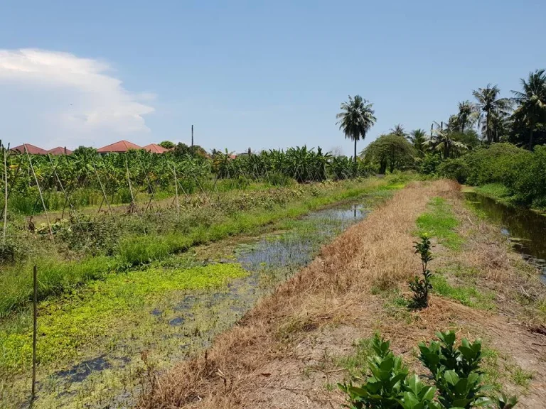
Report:
M 379 200 L 383 198 L 366 197 L 358 205 L 312 212 L 289 222 L 281 233 L 240 244 L 218 260 L 193 261 L 240 263 L 249 275 L 222 289 L 173 291 L 146 305 L 130 339 L 112 337 L 105 347 L 87 352 L 73 366 L 48 376 L 48 383 L 40 384 L 36 406 L 130 407 L 146 372 L 142 351 L 146 351 L 149 365 L 161 371 L 210 347 L 216 334 L 234 325 L 259 298 L 310 263 L 321 246 L 365 218 Z

